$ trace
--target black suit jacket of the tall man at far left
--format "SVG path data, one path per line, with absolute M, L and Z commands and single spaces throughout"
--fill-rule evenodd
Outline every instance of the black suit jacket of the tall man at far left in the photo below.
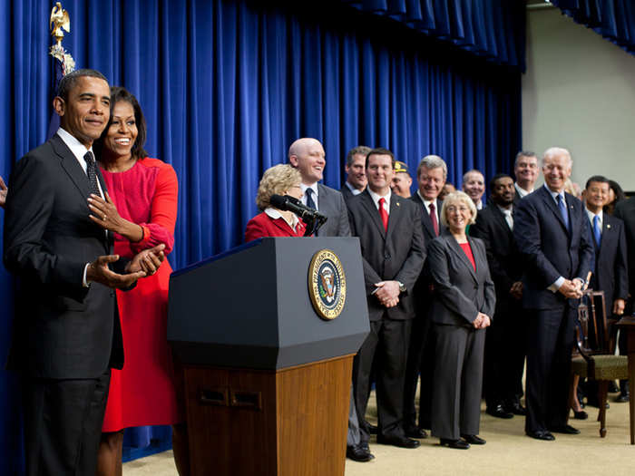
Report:
M 86 263 L 112 254 L 111 240 L 88 218 L 90 193 L 58 135 L 15 165 L 5 215 L 5 267 L 19 278 L 9 368 L 76 379 L 123 364 L 114 291 L 82 286 Z

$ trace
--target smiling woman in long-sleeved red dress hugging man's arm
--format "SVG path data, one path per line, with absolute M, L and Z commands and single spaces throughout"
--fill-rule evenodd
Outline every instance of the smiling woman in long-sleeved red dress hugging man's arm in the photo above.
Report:
M 165 244 L 167 255 L 174 246 L 176 173 L 169 164 L 148 157 L 143 150 L 145 138 L 139 102 L 125 89 L 113 87 L 111 118 L 95 144 L 108 193 L 105 200 L 92 195 L 89 207 L 91 219 L 113 232 L 114 252 L 122 257 L 160 243 Z M 116 291 L 125 363 L 121 371 L 112 369 L 99 475 L 122 474 L 123 429 L 164 424 L 172 425 L 177 469 L 181 474 L 188 472 L 184 419 L 166 338 L 170 274 L 166 259 L 153 276 L 140 279 L 131 291 Z

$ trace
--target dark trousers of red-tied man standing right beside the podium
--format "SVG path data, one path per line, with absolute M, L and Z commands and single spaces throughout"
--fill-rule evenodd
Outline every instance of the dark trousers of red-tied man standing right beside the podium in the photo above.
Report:
M 371 321 L 370 334 L 355 356 L 353 384 L 362 443 L 370 438 L 364 422 L 375 355 L 378 431 L 387 437 L 404 435 L 404 374 L 411 325 L 410 320 Z

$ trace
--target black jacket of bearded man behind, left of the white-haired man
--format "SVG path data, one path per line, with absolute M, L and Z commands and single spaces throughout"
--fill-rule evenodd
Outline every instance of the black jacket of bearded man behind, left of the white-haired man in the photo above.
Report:
M 493 203 L 479 211 L 470 235 L 484 242 L 497 302 L 513 299 L 509 291 L 523 276 L 522 257 L 501 209 Z

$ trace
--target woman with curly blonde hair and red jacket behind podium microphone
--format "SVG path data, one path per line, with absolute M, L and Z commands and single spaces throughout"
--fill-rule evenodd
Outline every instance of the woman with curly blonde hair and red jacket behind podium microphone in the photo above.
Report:
M 276 209 L 269 200 L 272 195 L 302 198 L 300 172 L 288 164 L 278 164 L 265 170 L 256 196 L 261 213 L 250 219 L 245 228 L 245 241 L 266 237 L 302 237 L 305 223 L 291 211 Z

